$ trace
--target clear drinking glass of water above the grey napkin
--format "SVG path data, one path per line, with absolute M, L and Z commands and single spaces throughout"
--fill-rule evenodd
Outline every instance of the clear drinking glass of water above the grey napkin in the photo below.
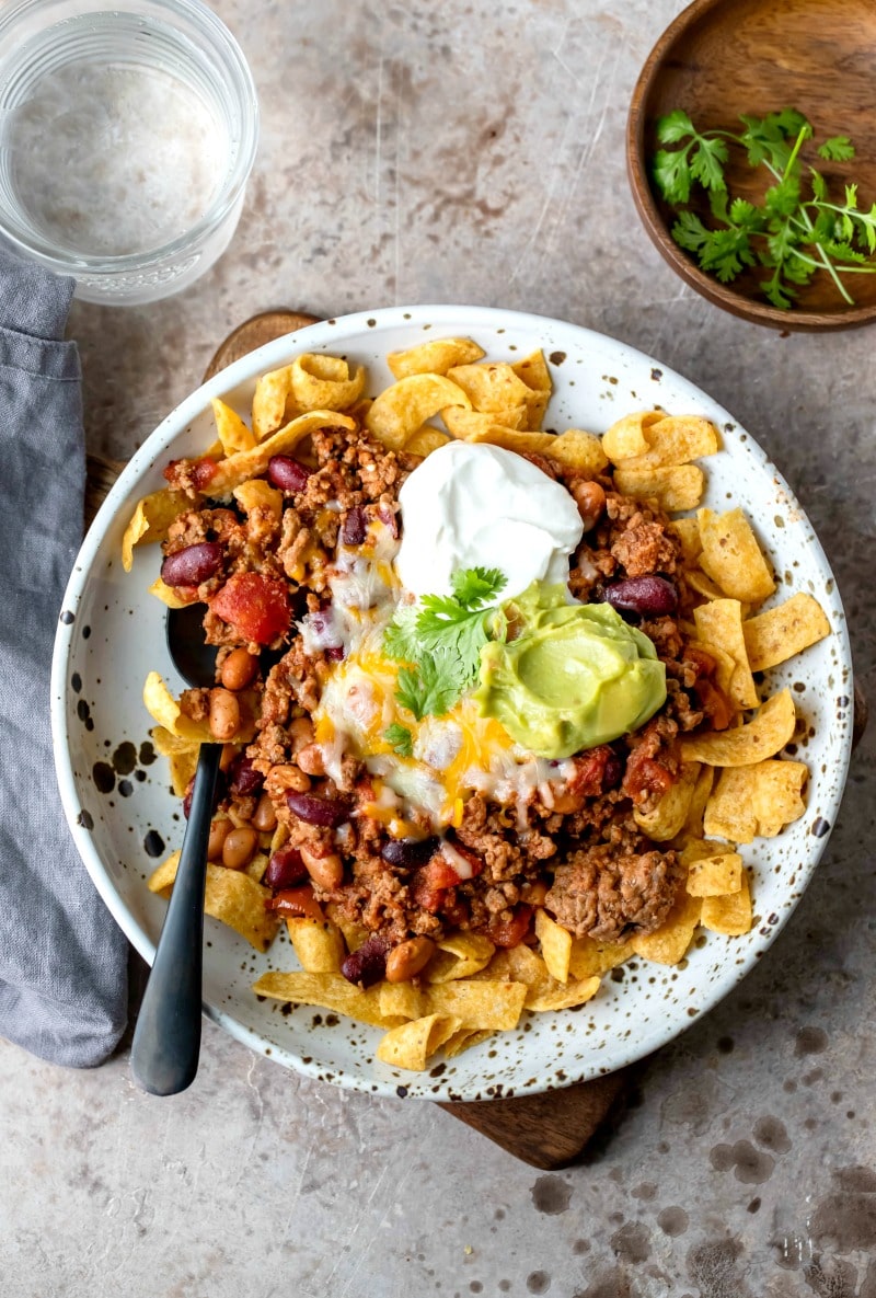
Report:
M 130 305 L 225 252 L 258 141 L 253 79 L 201 0 L 0 8 L 0 235 Z

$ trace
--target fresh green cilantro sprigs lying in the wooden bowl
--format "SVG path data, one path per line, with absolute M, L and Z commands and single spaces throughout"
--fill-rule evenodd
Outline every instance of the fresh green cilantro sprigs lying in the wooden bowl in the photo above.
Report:
M 657 123 L 661 148 L 653 177 L 663 199 L 685 209 L 694 187 L 709 196 L 711 222 L 696 212 L 680 210 L 672 238 L 696 256 L 702 270 L 723 284 L 746 266 L 772 274 L 762 288 L 773 306 L 788 309 L 816 271 L 827 271 L 846 302 L 853 297 L 840 274 L 876 271 L 876 204 L 858 205 L 858 187 L 846 184 L 842 202 L 833 201 L 824 175 L 803 169 L 801 148 L 812 138 L 812 125 L 794 108 L 766 117 L 742 116 L 744 130 L 697 131 L 687 113 L 676 109 Z M 772 178 L 760 204 L 733 197 L 724 167 L 731 147 L 745 149 L 749 165 Z M 834 135 L 818 148 L 828 162 L 847 162 L 855 149 L 847 135 Z

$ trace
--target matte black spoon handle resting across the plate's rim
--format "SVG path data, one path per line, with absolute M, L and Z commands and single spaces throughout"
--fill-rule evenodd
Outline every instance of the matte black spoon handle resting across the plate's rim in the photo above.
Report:
M 175 1096 L 195 1080 L 201 1049 L 204 885 L 221 744 L 201 744 L 174 890 L 131 1044 L 134 1080 Z

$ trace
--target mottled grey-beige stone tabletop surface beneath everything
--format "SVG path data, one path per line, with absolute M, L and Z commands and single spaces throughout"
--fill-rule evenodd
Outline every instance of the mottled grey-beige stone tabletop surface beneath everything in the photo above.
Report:
M 764 444 L 833 563 L 872 698 L 876 335 L 723 315 L 633 212 L 627 105 L 681 4 L 215 8 L 262 104 L 247 209 L 182 299 L 74 309 L 91 448 L 130 454 L 266 308 L 563 317 L 680 370 Z M 209 1024 L 196 1085 L 166 1101 L 132 1086 L 125 1053 L 77 1075 L 4 1046 L 0 1292 L 876 1298 L 875 833 L 871 735 L 770 957 L 563 1173 L 427 1105 L 301 1080 Z

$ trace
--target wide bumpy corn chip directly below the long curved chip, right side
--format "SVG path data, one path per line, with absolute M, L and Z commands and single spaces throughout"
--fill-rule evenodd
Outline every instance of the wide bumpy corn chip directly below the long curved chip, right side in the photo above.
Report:
M 775 839 L 806 810 L 805 762 L 758 762 L 722 771 L 706 803 L 703 831 L 731 842 Z

